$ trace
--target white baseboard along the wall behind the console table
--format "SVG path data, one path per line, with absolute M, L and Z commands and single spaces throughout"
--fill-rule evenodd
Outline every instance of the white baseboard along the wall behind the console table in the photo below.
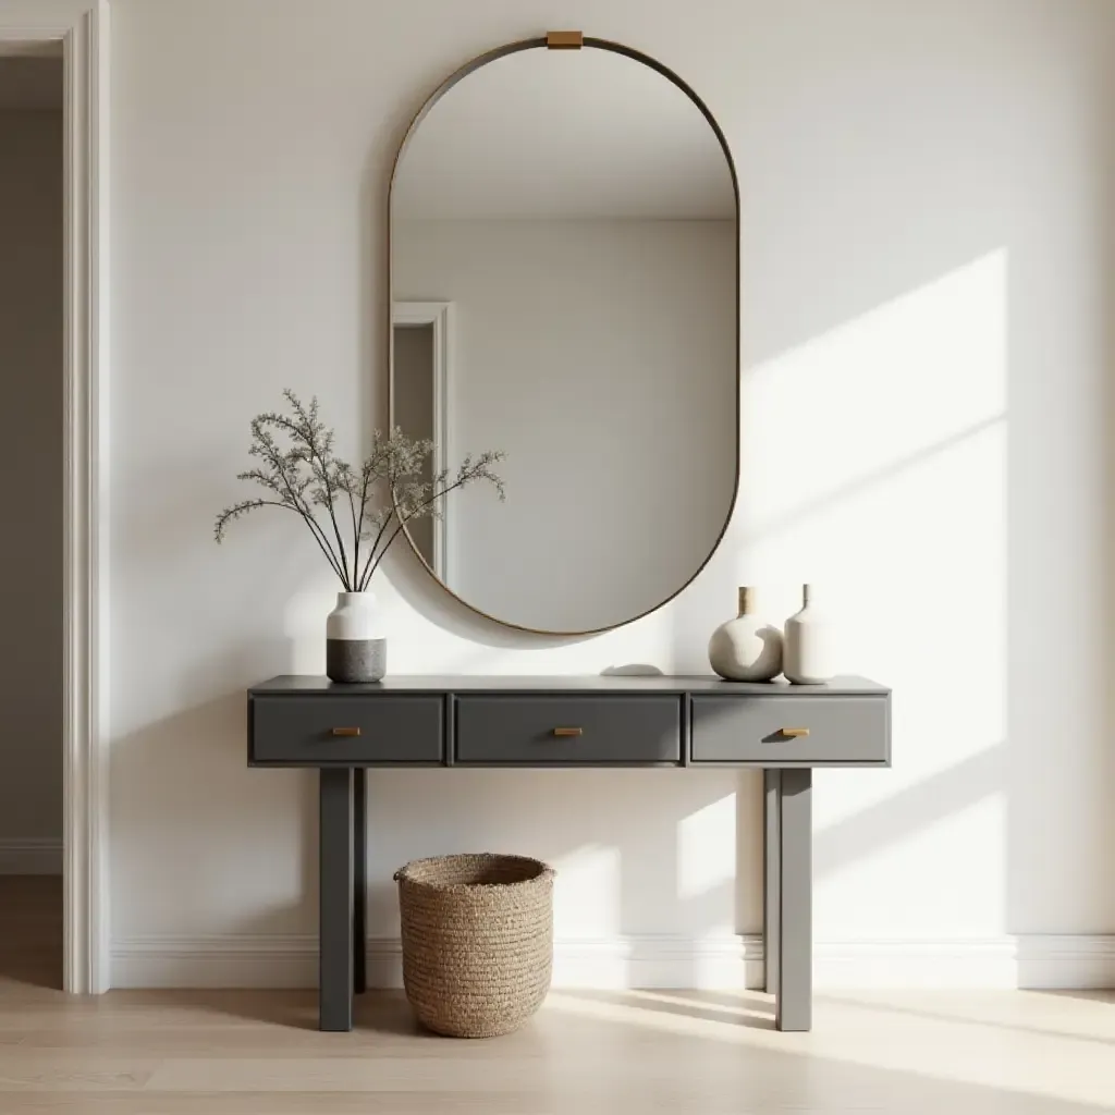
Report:
M 112 950 L 118 988 L 294 988 L 318 982 L 318 941 L 287 937 L 136 937 Z M 398 940 L 369 940 L 369 987 L 401 987 Z M 1115 935 L 935 941 L 832 941 L 814 948 L 825 988 L 1111 988 Z M 554 987 L 705 988 L 763 985 L 759 937 L 614 937 L 554 943 Z

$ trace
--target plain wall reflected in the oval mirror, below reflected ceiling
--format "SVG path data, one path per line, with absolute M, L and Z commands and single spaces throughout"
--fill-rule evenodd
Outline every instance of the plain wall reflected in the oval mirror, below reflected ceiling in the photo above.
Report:
M 450 466 L 502 449 L 507 501 L 454 494 L 447 583 L 588 631 L 697 572 L 736 478 L 735 221 L 398 221 L 394 294 L 453 302 Z

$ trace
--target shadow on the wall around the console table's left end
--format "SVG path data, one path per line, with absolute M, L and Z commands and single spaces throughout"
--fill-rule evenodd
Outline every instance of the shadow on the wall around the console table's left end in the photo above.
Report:
M 230 652 L 223 669 L 207 663 L 200 682 L 209 688 L 212 677 L 223 672 L 233 691 L 114 743 L 110 777 L 116 786 L 132 789 L 114 794 L 114 879 L 126 880 L 127 895 L 152 899 L 147 920 L 138 925 L 128 920 L 137 906 L 134 900 L 116 903 L 114 941 L 127 943 L 136 933 L 191 940 L 214 933 L 299 934 L 316 927 L 317 777 L 246 765 L 244 690 L 260 680 L 260 671 L 289 672 L 291 655 L 283 640 Z M 196 787 L 202 772 L 204 795 L 176 792 L 178 786 Z M 273 823 L 277 813 L 283 817 L 281 826 Z M 216 818 L 224 833 L 220 842 L 213 840 Z M 157 842 L 152 833 L 158 833 Z M 220 924 L 214 924 L 214 911 L 223 915 Z

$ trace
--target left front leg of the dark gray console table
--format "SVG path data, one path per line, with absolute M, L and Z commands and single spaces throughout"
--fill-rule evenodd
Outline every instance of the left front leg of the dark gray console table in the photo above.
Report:
M 352 1029 L 352 770 L 319 772 L 319 1027 Z

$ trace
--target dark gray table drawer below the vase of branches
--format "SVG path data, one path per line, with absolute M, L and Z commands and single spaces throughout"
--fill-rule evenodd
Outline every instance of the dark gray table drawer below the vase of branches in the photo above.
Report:
M 254 763 L 440 763 L 445 698 L 254 697 Z

